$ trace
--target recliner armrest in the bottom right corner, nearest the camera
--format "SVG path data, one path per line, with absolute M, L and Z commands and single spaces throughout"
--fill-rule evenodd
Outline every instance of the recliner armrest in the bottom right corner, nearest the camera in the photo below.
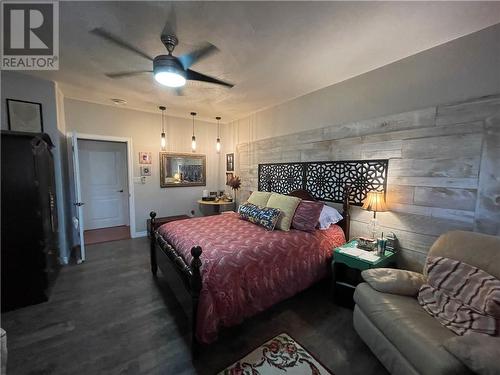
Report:
M 471 333 L 457 336 L 443 343 L 445 349 L 457 357 L 475 374 L 495 375 L 500 373 L 500 337 Z

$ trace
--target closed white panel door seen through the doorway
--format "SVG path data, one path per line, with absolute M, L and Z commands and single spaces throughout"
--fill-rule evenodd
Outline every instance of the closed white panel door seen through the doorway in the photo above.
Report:
M 127 145 L 78 140 L 84 229 L 129 225 Z

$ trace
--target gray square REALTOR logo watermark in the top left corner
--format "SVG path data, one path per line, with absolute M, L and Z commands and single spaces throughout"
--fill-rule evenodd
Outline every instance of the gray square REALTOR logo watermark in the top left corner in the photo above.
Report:
M 59 69 L 59 3 L 2 1 L 2 70 Z

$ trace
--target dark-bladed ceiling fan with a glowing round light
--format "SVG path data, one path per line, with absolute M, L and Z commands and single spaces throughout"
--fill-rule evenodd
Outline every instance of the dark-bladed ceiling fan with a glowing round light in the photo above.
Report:
M 234 86 L 231 83 L 222 81 L 215 77 L 211 77 L 190 69 L 190 67 L 193 64 L 219 51 L 219 49 L 213 44 L 205 42 L 201 47 L 190 53 L 186 53 L 181 56 L 174 56 L 172 53 L 174 52 L 175 47 L 179 43 L 179 40 L 175 36 L 175 31 L 172 29 L 171 26 L 172 25 L 169 22 L 167 22 L 160 36 L 163 45 L 167 48 L 168 55 L 158 55 L 154 58 L 149 56 L 147 53 L 141 51 L 140 49 L 134 47 L 126 40 L 121 39 L 119 36 L 113 35 L 109 31 L 104 30 L 103 28 L 95 28 L 91 30 L 90 31 L 91 34 L 106 39 L 107 41 L 115 44 L 118 47 L 121 47 L 129 52 L 133 52 L 136 55 L 139 55 L 153 62 L 153 70 L 107 73 L 106 76 L 110 78 L 124 78 L 143 73 L 153 73 L 153 76 L 157 82 L 159 82 L 162 85 L 173 88 L 179 88 L 184 86 L 186 84 L 186 80 L 208 82 L 216 85 L 222 85 L 225 87 Z

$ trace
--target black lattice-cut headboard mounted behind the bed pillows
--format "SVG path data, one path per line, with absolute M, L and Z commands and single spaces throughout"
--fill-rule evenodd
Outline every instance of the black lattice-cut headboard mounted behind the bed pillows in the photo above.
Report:
M 386 191 L 388 165 L 388 159 L 259 164 L 258 188 L 281 194 L 305 189 L 318 200 L 342 203 L 350 186 L 350 203 L 361 206 L 369 191 Z

